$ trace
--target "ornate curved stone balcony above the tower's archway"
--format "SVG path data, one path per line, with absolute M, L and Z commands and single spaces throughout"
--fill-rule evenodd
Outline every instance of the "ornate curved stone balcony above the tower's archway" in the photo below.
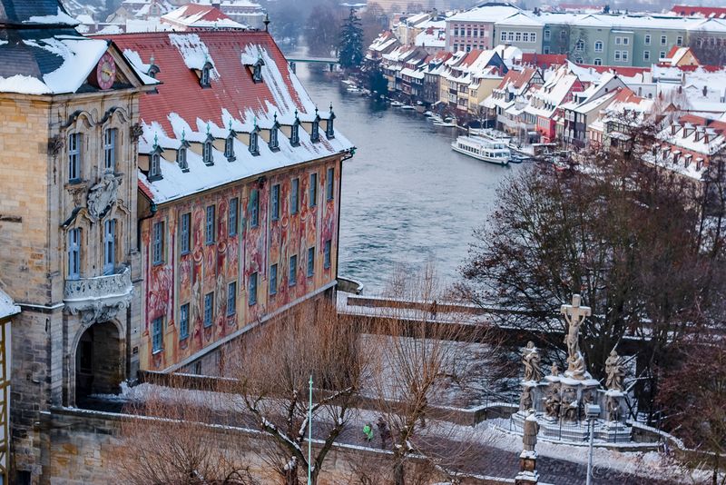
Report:
M 106 276 L 66 280 L 64 303 L 71 314 L 80 313 L 84 323 L 107 322 L 129 306 L 132 292 L 131 270 L 121 266 Z

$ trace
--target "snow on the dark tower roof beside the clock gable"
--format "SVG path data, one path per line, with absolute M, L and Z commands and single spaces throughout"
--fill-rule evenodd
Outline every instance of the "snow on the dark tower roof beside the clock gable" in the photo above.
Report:
M 45 61 L 53 60 L 57 65 L 48 72 L 28 74 L 18 72 L 13 75 L 0 76 L 0 92 L 19 94 L 66 94 L 75 93 L 85 83 L 88 75 L 108 49 L 108 43 L 100 39 L 89 39 L 78 36 L 64 35 L 45 39 L 15 38 L 0 45 L 0 58 L 4 51 L 16 52 L 19 49 L 29 50 L 34 56 L 44 56 Z M 27 66 L 19 66 L 26 69 Z M 18 69 L 18 70 L 19 70 Z

